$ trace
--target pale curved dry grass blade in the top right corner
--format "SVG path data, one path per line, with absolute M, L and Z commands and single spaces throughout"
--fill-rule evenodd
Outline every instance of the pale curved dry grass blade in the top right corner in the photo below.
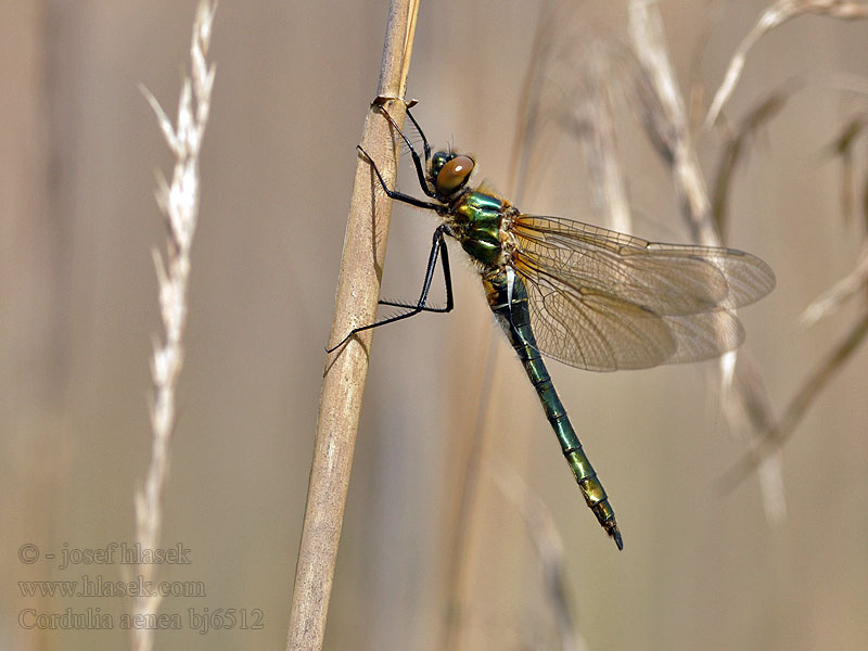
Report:
M 842 0 L 778 0 L 768 7 L 760 16 L 756 25 L 741 39 L 732 55 L 720 88 L 714 93 L 714 100 L 712 100 L 709 114 L 705 116 L 704 128 L 711 128 L 720 116 L 724 104 L 731 97 L 736 84 L 741 77 L 750 49 L 768 31 L 800 14 L 819 14 L 844 20 L 868 18 L 868 7 Z

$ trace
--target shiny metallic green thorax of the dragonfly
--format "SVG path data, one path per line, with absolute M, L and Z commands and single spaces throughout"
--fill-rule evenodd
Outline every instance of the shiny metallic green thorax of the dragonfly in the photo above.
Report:
M 449 206 L 455 237 L 474 260 L 485 266 L 497 263 L 501 250 L 500 222 L 510 208 L 502 199 L 472 190 Z

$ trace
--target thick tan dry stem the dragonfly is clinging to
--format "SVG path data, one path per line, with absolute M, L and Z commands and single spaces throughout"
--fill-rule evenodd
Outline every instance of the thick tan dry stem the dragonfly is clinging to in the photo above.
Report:
M 404 97 L 418 9 L 418 0 L 393 0 L 391 4 L 378 90 L 381 97 Z M 403 124 L 401 102 L 388 102 L 386 108 Z M 376 161 L 386 182 L 394 184 L 395 143 L 388 123 L 379 111 L 369 112 L 361 144 Z M 340 341 L 353 328 L 374 320 L 391 210 L 392 201 L 381 191 L 370 163 L 358 156 L 330 342 Z M 371 334 L 368 330 L 353 337 L 332 353 L 327 362 L 288 650 L 322 648 Z

